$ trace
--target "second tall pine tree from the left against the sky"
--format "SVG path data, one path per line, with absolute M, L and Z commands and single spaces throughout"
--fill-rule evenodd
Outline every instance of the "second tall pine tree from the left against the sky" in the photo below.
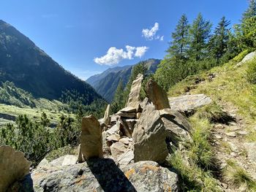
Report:
M 206 43 L 211 32 L 211 23 L 199 13 L 189 28 L 189 58 L 200 61 L 206 55 Z

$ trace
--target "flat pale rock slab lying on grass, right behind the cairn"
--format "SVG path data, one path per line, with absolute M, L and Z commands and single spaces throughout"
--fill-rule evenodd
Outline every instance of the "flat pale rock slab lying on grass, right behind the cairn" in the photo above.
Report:
M 204 94 L 169 97 L 170 109 L 190 112 L 211 103 L 211 98 Z

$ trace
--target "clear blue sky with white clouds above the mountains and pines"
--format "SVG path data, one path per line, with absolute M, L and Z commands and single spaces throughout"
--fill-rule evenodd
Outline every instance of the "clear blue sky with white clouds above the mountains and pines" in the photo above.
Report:
M 109 65 L 163 58 L 183 13 L 189 22 L 201 12 L 214 25 L 223 15 L 234 24 L 247 6 L 248 0 L 3 0 L 0 19 L 86 80 Z

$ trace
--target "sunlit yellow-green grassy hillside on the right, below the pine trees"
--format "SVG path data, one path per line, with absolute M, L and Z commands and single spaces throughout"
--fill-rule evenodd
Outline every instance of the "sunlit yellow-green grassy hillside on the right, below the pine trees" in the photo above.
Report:
M 250 62 L 256 62 L 256 58 Z M 248 131 L 249 133 L 245 137 L 230 139 L 225 136 L 225 133 L 230 131 L 233 128 L 232 126 L 224 126 L 224 128 L 218 130 L 215 128 L 216 124 L 212 124 L 212 133 L 221 134 L 223 138 L 227 138 L 227 142 L 225 139 L 219 139 L 220 145 L 212 146 L 213 150 L 220 154 L 221 160 L 227 164 L 226 168 L 222 169 L 224 177 L 219 178 L 219 180 L 222 183 L 227 183 L 229 188 L 234 190 L 238 187 L 243 188 L 243 185 L 245 185 L 248 191 L 254 191 L 256 190 L 256 182 L 252 180 L 251 175 L 254 174 L 253 170 L 255 167 L 253 168 L 248 165 L 246 154 L 243 152 L 239 153 L 237 157 L 230 155 L 230 145 L 228 144 L 228 142 L 233 142 L 242 151 L 241 146 L 243 146 L 244 142 L 256 141 L 255 93 L 253 86 L 246 80 L 246 70 L 248 69 L 249 62 L 241 66 L 236 66 L 237 63 L 238 61 L 233 60 L 223 66 L 217 66 L 208 72 L 188 77 L 186 80 L 173 86 L 173 88 L 170 88 L 168 96 L 180 96 L 187 92 L 191 94 L 205 93 L 217 105 L 223 107 L 228 114 L 235 114 L 236 120 L 240 120 L 236 126 L 242 128 L 243 130 L 241 131 Z M 198 117 L 197 122 L 200 122 Z M 195 130 L 198 129 L 196 126 L 193 126 L 193 128 Z M 190 151 L 190 153 L 193 152 Z M 236 164 L 230 163 L 228 159 L 232 159 L 230 161 L 234 161 Z M 247 172 L 243 167 L 245 164 L 249 166 Z M 180 172 L 182 175 L 182 172 L 186 173 L 186 169 L 181 166 Z M 197 170 L 195 169 L 194 172 L 197 172 Z M 252 174 L 250 175 L 249 172 Z M 189 177 L 189 175 L 186 175 L 186 177 Z M 203 183 L 205 182 L 203 181 Z M 203 189 L 206 190 L 206 187 L 207 185 Z

